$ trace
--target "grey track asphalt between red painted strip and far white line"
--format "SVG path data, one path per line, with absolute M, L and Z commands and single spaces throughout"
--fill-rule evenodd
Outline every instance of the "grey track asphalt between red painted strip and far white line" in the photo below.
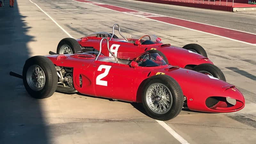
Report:
M 134 0 L 92 1 L 256 34 L 256 15 L 253 14 L 253 12 L 239 12 L 239 14 L 237 14 L 236 12 L 212 11 L 168 4 L 145 3 Z

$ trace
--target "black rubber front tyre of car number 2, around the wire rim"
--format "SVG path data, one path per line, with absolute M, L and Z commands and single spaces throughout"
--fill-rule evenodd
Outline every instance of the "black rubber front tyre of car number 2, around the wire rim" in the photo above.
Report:
M 167 107 L 167 110 L 163 114 L 159 114 L 152 110 L 152 106 L 150 106 L 147 102 L 147 91 L 154 86 L 154 84 L 162 84 L 165 87 L 167 87 L 170 90 L 172 100 L 172 104 L 170 104 L 170 107 Z M 162 99 L 163 97 L 161 97 Z M 167 99 L 167 98 L 166 98 Z M 161 101 L 161 100 L 160 100 Z M 169 119 L 172 119 L 176 117 L 182 107 L 183 107 L 183 93 L 180 88 L 180 85 L 170 76 L 167 75 L 156 75 L 148 78 L 143 86 L 143 92 L 142 92 L 142 104 L 145 109 L 145 111 L 148 113 L 148 115 L 154 119 L 166 121 Z M 151 107 L 151 108 L 150 108 Z

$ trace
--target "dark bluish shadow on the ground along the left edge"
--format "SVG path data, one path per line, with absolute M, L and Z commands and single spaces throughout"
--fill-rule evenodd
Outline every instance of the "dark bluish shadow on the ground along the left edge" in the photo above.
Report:
M 33 36 L 26 34 L 29 27 L 19 13 L 19 1 L 14 8 L 8 3 L 0 7 L 0 143 L 48 144 L 40 100 L 27 94 L 21 79 L 9 76 L 10 70 L 22 72 Z

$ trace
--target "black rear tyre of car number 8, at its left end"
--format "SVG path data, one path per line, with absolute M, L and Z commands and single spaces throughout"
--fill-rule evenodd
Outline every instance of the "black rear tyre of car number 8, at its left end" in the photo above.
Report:
M 68 46 L 70 49 L 71 49 L 71 53 L 76 53 L 78 51 L 81 51 L 81 47 L 80 47 L 80 44 L 78 44 L 78 42 L 74 39 L 74 38 L 63 38 L 58 46 L 57 46 L 57 54 L 67 54 L 67 53 L 63 53 L 62 52 L 62 49 L 65 47 L 65 46 Z

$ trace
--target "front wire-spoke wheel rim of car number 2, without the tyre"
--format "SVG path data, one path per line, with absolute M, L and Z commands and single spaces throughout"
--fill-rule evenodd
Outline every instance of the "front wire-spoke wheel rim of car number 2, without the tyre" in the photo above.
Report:
M 154 113 L 165 114 L 172 107 L 172 94 L 164 84 L 154 83 L 147 89 L 146 101 Z

